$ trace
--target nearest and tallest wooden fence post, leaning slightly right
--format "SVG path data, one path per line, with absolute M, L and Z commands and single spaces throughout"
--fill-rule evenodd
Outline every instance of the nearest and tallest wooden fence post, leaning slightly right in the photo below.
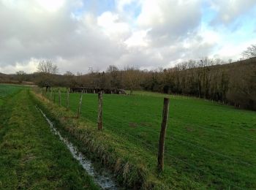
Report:
M 164 99 L 164 107 L 162 110 L 162 126 L 159 137 L 159 149 L 158 149 L 158 170 L 162 171 L 164 168 L 164 153 L 165 153 L 165 133 L 167 128 L 167 121 L 169 115 L 169 102 L 168 98 Z

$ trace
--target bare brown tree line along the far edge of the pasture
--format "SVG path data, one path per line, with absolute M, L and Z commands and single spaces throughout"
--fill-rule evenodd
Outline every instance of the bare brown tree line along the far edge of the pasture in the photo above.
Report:
M 11 76 L 18 81 L 34 81 L 46 89 L 53 86 L 126 89 L 130 94 L 135 90 L 145 90 L 197 96 L 256 110 L 255 52 L 255 45 L 248 47 L 242 53 L 247 59 L 236 62 L 202 58 L 184 61 L 173 68 L 159 68 L 154 71 L 140 70 L 135 66 L 118 69 L 117 66 L 110 65 L 105 72 L 89 68 L 86 75 L 75 75 L 69 71 L 58 75 L 58 67 L 55 64 L 51 61 L 41 61 L 34 74 L 18 72 Z

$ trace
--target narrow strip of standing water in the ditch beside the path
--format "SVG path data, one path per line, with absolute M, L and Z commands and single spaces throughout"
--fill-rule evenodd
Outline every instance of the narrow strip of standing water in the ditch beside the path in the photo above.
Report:
M 78 151 L 78 149 L 75 147 L 75 145 L 72 144 L 72 142 L 69 142 L 67 139 L 61 136 L 59 131 L 53 126 L 53 123 L 47 118 L 45 113 L 42 112 L 42 110 L 37 107 L 37 110 L 39 110 L 40 113 L 44 116 L 45 120 L 48 121 L 49 126 L 53 134 L 56 134 L 59 136 L 59 139 L 67 145 L 67 148 L 69 148 L 69 151 L 72 153 L 72 156 L 79 161 L 79 163 L 82 165 L 83 169 L 86 170 L 86 172 L 91 175 L 94 182 L 97 183 L 102 189 L 118 189 L 118 186 L 116 185 L 115 180 L 113 180 L 113 176 L 111 176 L 108 172 L 105 172 L 104 175 L 94 170 L 93 164 L 89 159 L 86 158 L 82 153 Z

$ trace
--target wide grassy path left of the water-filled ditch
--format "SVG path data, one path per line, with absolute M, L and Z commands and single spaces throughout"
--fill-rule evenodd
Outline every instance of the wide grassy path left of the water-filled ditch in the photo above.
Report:
M 0 189 L 97 189 L 26 90 L 0 107 Z

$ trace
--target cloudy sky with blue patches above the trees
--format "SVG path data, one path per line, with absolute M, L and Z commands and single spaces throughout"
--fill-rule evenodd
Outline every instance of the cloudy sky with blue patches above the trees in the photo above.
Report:
M 255 18 L 255 0 L 0 0 L 0 72 L 236 61 L 256 44 Z

